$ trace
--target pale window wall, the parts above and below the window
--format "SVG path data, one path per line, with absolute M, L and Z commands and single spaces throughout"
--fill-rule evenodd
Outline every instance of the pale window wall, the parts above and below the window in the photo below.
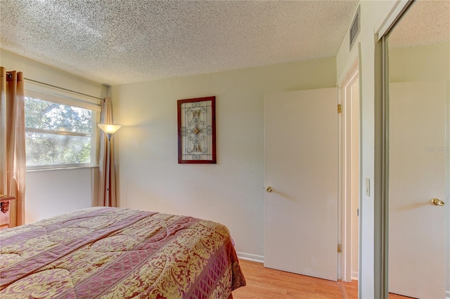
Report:
M 0 65 L 6 67 L 7 70 L 23 72 L 27 79 L 98 98 L 105 97 L 108 92 L 108 88 L 102 84 L 77 77 L 8 51 L 0 51 Z M 25 80 L 26 87 L 27 81 Z M 94 178 L 96 178 L 95 173 L 97 172 L 97 168 L 27 171 L 25 222 L 30 223 L 51 215 L 91 206 L 93 197 L 96 196 L 93 188 L 96 184 Z

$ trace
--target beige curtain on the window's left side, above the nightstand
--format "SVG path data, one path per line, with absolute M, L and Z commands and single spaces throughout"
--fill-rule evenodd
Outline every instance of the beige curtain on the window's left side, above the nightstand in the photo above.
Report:
M 11 201 L 11 226 L 25 224 L 25 89 L 22 72 L 1 72 L 0 194 Z

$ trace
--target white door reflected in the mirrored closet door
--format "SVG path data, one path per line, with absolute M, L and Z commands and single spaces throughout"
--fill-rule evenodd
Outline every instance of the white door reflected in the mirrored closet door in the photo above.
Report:
M 389 291 L 445 298 L 446 84 L 390 84 L 389 101 Z

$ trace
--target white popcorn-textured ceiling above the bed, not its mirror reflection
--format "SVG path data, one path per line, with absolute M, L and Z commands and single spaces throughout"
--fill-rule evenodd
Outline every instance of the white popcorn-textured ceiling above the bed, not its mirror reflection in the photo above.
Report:
M 357 2 L 0 0 L 0 46 L 126 84 L 334 56 Z

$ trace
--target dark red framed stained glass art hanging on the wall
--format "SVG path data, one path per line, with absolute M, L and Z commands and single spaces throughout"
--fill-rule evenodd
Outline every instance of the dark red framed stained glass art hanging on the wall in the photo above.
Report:
M 216 164 L 216 97 L 177 101 L 178 163 Z

